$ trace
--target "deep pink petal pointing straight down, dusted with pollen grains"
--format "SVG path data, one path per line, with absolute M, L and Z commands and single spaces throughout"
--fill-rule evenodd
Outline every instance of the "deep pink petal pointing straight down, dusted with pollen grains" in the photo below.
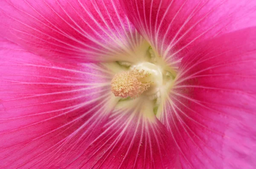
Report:
M 136 110 L 116 110 L 102 134 L 69 167 L 181 169 L 176 146 L 166 128 L 157 118 L 149 119 L 144 115 Z

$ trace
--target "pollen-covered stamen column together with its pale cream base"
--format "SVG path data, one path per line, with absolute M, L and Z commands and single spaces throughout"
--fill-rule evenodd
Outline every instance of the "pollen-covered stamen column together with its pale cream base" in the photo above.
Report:
M 135 98 L 147 91 L 155 94 L 163 83 L 160 67 L 153 63 L 143 62 L 130 67 L 130 71 L 116 74 L 111 80 L 111 91 L 117 97 Z

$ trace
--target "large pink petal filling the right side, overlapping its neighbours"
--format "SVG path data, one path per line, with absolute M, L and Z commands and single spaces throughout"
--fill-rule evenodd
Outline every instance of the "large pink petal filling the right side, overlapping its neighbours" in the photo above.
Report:
M 160 119 L 186 169 L 256 168 L 256 27 L 201 43 L 183 58 Z

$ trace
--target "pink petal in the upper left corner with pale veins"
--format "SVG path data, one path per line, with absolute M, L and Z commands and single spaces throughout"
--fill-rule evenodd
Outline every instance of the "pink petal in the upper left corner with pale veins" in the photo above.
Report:
M 0 34 L 62 62 L 121 60 L 141 43 L 118 0 L 1 0 Z

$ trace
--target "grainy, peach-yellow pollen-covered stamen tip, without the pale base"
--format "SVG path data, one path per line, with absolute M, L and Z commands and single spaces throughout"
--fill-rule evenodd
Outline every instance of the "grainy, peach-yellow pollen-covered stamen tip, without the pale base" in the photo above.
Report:
M 111 80 L 111 91 L 117 97 L 138 97 L 150 86 L 150 81 L 146 78 L 149 75 L 148 72 L 137 69 L 116 74 Z

